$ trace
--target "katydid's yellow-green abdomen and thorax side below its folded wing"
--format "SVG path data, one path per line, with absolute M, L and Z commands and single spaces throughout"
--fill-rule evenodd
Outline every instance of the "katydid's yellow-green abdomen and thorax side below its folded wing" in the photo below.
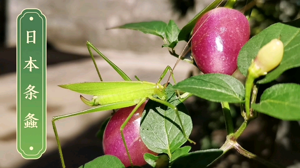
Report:
M 135 101 L 152 96 L 155 83 L 143 82 L 142 85 L 114 88 L 113 94 L 94 96 L 95 104 L 106 105 L 123 101 Z

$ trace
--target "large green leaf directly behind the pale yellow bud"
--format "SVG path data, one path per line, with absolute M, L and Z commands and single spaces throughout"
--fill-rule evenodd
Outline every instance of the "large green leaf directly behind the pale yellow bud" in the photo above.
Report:
M 255 59 L 262 46 L 272 39 L 279 38 L 284 45 L 284 55 L 280 65 L 269 72 L 265 78 L 257 83 L 268 83 L 276 80 L 280 75 L 291 68 L 300 66 L 300 28 L 296 28 L 283 23 L 276 23 L 262 30 L 259 34 L 252 37 L 241 49 L 238 56 L 238 69 L 246 76 L 248 68 Z

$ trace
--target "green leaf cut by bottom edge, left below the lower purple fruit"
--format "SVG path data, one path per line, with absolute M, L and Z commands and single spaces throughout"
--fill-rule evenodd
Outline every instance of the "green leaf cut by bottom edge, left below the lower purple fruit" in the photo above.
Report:
M 119 158 L 112 155 L 103 155 L 80 166 L 79 168 L 125 168 Z

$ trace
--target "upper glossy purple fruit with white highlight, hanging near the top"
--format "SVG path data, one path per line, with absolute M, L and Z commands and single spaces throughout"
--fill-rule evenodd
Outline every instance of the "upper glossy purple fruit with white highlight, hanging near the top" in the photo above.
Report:
M 200 27 L 200 28 L 199 28 Z M 238 10 L 219 7 L 205 13 L 196 23 L 191 48 L 204 73 L 232 75 L 241 48 L 250 38 L 247 18 Z

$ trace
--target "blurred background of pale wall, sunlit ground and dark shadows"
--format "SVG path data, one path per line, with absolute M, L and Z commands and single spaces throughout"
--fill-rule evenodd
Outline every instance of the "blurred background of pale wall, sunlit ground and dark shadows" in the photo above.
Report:
M 87 109 L 79 95 L 57 87 L 59 84 L 99 81 L 85 42 L 93 43 L 129 77 L 156 82 L 167 65 L 176 58 L 161 48 L 163 41 L 154 35 L 134 30 L 106 30 L 131 22 L 173 19 L 182 28 L 213 0 L 0 0 L 0 168 L 61 167 L 51 126 L 53 116 Z M 249 0 L 248 0 L 249 1 Z M 246 0 L 238 0 L 242 9 Z M 16 18 L 25 8 L 38 8 L 47 18 L 47 150 L 37 160 L 26 160 L 16 150 Z M 276 22 L 300 17 L 300 0 L 257 0 L 250 18 L 251 36 Z M 176 46 L 180 53 L 185 43 Z M 96 62 L 103 79 L 122 80 L 103 59 Z M 174 74 L 181 81 L 199 71 L 180 62 Z M 300 84 L 299 68 L 286 71 L 273 83 Z M 235 77 L 244 82 L 238 72 Z M 219 103 L 191 97 L 186 106 L 193 120 L 190 138 L 198 142 L 192 150 L 219 148 L 226 138 L 223 112 Z M 232 104 L 235 127 L 243 121 L 239 106 Z M 77 168 L 103 155 L 102 143 L 95 137 L 111 112 L 85 114 L 56 122 L 65 164 Z M 300 123 L 281 121 L 266 115 L 253 120 L 239 143 L 262 158 L 289 167 L 300 167 Z M 190 144 L 186 144 L 190 145 Z M 230 151 L 211 167 L 264 167 L 237 152 Z

